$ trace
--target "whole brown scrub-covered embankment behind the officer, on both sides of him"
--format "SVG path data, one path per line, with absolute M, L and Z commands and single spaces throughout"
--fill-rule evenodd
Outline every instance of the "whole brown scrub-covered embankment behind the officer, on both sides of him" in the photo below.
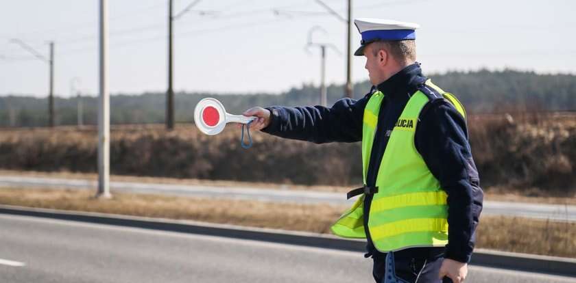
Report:
M 576 118 L 531 114 L 469 116 L 470 143 L 486 191 L 573 197 Z M 111 171 L 125 176 L 194 178 L 297 185 L 361 184 L 360 145 L 316 145 L 253 133 L 239 146 L 239 129 L 207 136 L 191 124 L 112 128 Z M 0 168 L 45 172 L 96 171 L 95 128 L 5 129 Z

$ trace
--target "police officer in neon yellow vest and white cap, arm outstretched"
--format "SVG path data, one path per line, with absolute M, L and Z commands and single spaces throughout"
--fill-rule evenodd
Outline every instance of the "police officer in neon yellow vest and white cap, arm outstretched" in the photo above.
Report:
M 370 93 L 331 108 L 254 107 L 250 128 L 315 143 L 362 142 L 363 187 L 332 227 L 365 238 L 376 282 L 464 282 L 483 193 L 472 160 L 466 112 L 422 75 L 418 25 L 355 20 Z

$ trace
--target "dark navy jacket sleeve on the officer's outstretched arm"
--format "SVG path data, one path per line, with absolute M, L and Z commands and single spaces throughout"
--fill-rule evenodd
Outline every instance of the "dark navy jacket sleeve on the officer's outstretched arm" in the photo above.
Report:
M 267 107 L 271 112 L 265 133 L 322 144 L 326 142 L 359 142 L 362 139 L 362 119 L 368 102 L 342 98 L 332 107 Z

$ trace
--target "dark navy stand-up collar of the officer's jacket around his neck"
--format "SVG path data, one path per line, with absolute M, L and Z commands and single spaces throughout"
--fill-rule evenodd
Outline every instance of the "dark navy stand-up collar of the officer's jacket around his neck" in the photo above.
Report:
M 416 62 L 406 66 L 386 81 L 376 85 L 376 88 L 390 98 L 413 94 L 418 90 L 418 85 L 424 83 L 426 77 L 422 75 L 420 63 Z

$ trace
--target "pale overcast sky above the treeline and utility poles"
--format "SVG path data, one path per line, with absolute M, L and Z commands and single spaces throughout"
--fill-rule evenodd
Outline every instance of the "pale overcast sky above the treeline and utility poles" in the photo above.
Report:
M 193 0 L 174 0 L 178 13 Z M 424 72 L 501 70 L 576 73 L 573 0 L 354 0 L 353 17 L 421 25 Z M 98 0 L 0 0 L 0 95 L 45 96 L 48 57 L 56 42 L 55 92 L 97 93 Z M 110 0 L 110 92 L 167 88 L 167 0 Z M 324 0 L 346 16 L 346 0 Z M 273 10 L 279 10 L 275 14 Z M 346 24 L 314 0 L 203 0 L 174 23 L 176 91 L 284 92 L 320 82 L 320 52 L 304 49 L 309 30 L 328 50 L 326 81 L 346 81 Z M 353 29 L 352 49 L 360 37 Z M 364 57 L 352 58 L 353 81 L 368 78 Z

